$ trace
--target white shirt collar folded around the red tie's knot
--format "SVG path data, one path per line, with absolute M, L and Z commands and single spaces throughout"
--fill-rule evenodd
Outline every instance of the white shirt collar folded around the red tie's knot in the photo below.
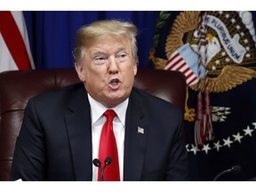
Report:
M 88 100 L 91 105 L 91 118 L 92 118 L 92 124 L 94 124 L 102 114 L 110 108 L 106 108 L 103 106 L 99 101 L 94 100 L 91 95 L 88 93 Z M 125 116 L 126 116 L 126 109 L 128 107 L 129 98 L 124 100 L 122 103 L 117 105 L 115 108 L 111 108 L 115 110 L 116 115 L 118 116 L 119 120 L 123 125 L 125 125 Z

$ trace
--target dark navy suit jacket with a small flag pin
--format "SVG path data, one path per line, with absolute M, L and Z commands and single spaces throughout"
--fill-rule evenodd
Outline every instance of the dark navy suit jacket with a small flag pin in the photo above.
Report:
M 180 109 L 133 88 L 124 180 L 188 180 L 182 122 Z M 28 101 L 12 162 L 11 180 L 18 179 L 92 180 L 91 112 L 84 84 Z

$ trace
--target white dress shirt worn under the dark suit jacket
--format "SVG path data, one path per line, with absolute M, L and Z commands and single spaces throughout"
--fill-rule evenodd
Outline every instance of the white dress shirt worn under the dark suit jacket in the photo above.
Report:
M 107 118 L 103 116 L 103 113 L 110 108 L 106 108 L 97 100 L 92 99 L 88 93 L 88 99 L 91 105 L 91 119 L 92 119 L 92 161 L 94 158 L 99 158 L 99 146 L 100 146 L 100 133 L 103 124 L 106 122 Z M 124 100 L 121 104 L 116 106 L 116 108 L 111 108 L 115 110 L 116 117 L 113 120 L 114 134 L 116 137 L 116 145 L 119 160 L 119 172 L 120 180 L 124 180 L 124 124 L 126 109 L 128 106 L 128 101 Z M 104 166 L 104 162 L 100 162 L 101 166 Z M 98 180 L 98 167 L 92 164 L 92 180 Z

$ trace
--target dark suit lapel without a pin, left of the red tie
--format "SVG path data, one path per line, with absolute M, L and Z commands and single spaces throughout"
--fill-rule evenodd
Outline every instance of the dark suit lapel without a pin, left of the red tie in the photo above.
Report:
M 84 89 L 74 94 L 65 120 L 76 180 L 92 180 L 92 124 Z

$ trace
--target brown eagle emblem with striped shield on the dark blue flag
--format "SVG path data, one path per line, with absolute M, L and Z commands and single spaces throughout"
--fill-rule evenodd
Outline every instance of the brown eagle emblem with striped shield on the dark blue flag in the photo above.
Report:
M 167 17 L 166 12 L 161 12 L 160 22 Z M 199 24 L 200 12 L 180 12 L 166 37 L 167 60 L 157 58 L 154 47 L 150 51 L 149 60 L 156 69 L 180 70 L 188 87 L 196 92 L 204 90 L 206 83 L 209 92 L 228 92 L 256 77 L 256 36 L 251 12 L 207 12 L 207 44 L 200 47 Z M 204 56 L 204 66 L 198 65 L 199 55 Z M 195 121 L 195 109 L 189 109 L 187 102 L 188 93 L 185 120 Z

